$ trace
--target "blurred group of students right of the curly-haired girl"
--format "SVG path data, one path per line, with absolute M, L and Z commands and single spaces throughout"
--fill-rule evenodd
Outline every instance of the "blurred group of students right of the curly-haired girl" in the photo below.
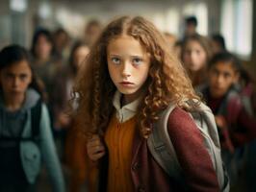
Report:
M 254 191 L 256 92 L 251 71 L 226 49 L 223 36 L 197 34 L 193 16 L 186 23 L 184 38 L 171 41 L 171 48 L 182 61 L 194 89 L 215 114 L 231 191 Z

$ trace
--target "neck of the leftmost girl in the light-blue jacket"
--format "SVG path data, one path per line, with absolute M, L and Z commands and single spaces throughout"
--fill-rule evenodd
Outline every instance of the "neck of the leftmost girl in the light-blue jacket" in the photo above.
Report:
M 25 94 L 18 94 L 15 96 L 6 95 L 4 96 L 5 107 L 9 111 L 15 111 L 22 107 L 25 101 Z

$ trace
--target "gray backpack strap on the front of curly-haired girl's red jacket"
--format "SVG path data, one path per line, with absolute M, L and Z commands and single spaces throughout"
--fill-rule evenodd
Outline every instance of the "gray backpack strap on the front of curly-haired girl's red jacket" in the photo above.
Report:
M 175 105 L 169 105 L 160 115 L 160 120 L 153 124 L 152 133 L 147 139 L 151 155 L 174 180 L 181 181 L 181 166 L 167 132 L 167 121 Z

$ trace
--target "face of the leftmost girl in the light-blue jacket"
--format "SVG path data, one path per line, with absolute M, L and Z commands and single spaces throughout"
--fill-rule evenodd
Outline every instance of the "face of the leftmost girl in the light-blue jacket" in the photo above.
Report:
M 21 60 L 0 71 L 0 84 L 5 97 L 22 95 L 32 81 L 32 71 L 26 60 Z

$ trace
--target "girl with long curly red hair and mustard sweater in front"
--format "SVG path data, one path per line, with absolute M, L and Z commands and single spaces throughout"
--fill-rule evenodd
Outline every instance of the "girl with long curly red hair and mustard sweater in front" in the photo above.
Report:
M 202 136 L 186 109 L 200 102 L 165 38 L 144 18 L 111 22 L 91 48 L 80 71 L 76 117 L 86 133 L 99 191 L 219 191 Z M 168 177 L 150 154 L 152 123 L 170 103 L 177 106 L 168 134 L 183 169 L 182 183 Z M 200 156 L 198 156 L 200 155 Z

